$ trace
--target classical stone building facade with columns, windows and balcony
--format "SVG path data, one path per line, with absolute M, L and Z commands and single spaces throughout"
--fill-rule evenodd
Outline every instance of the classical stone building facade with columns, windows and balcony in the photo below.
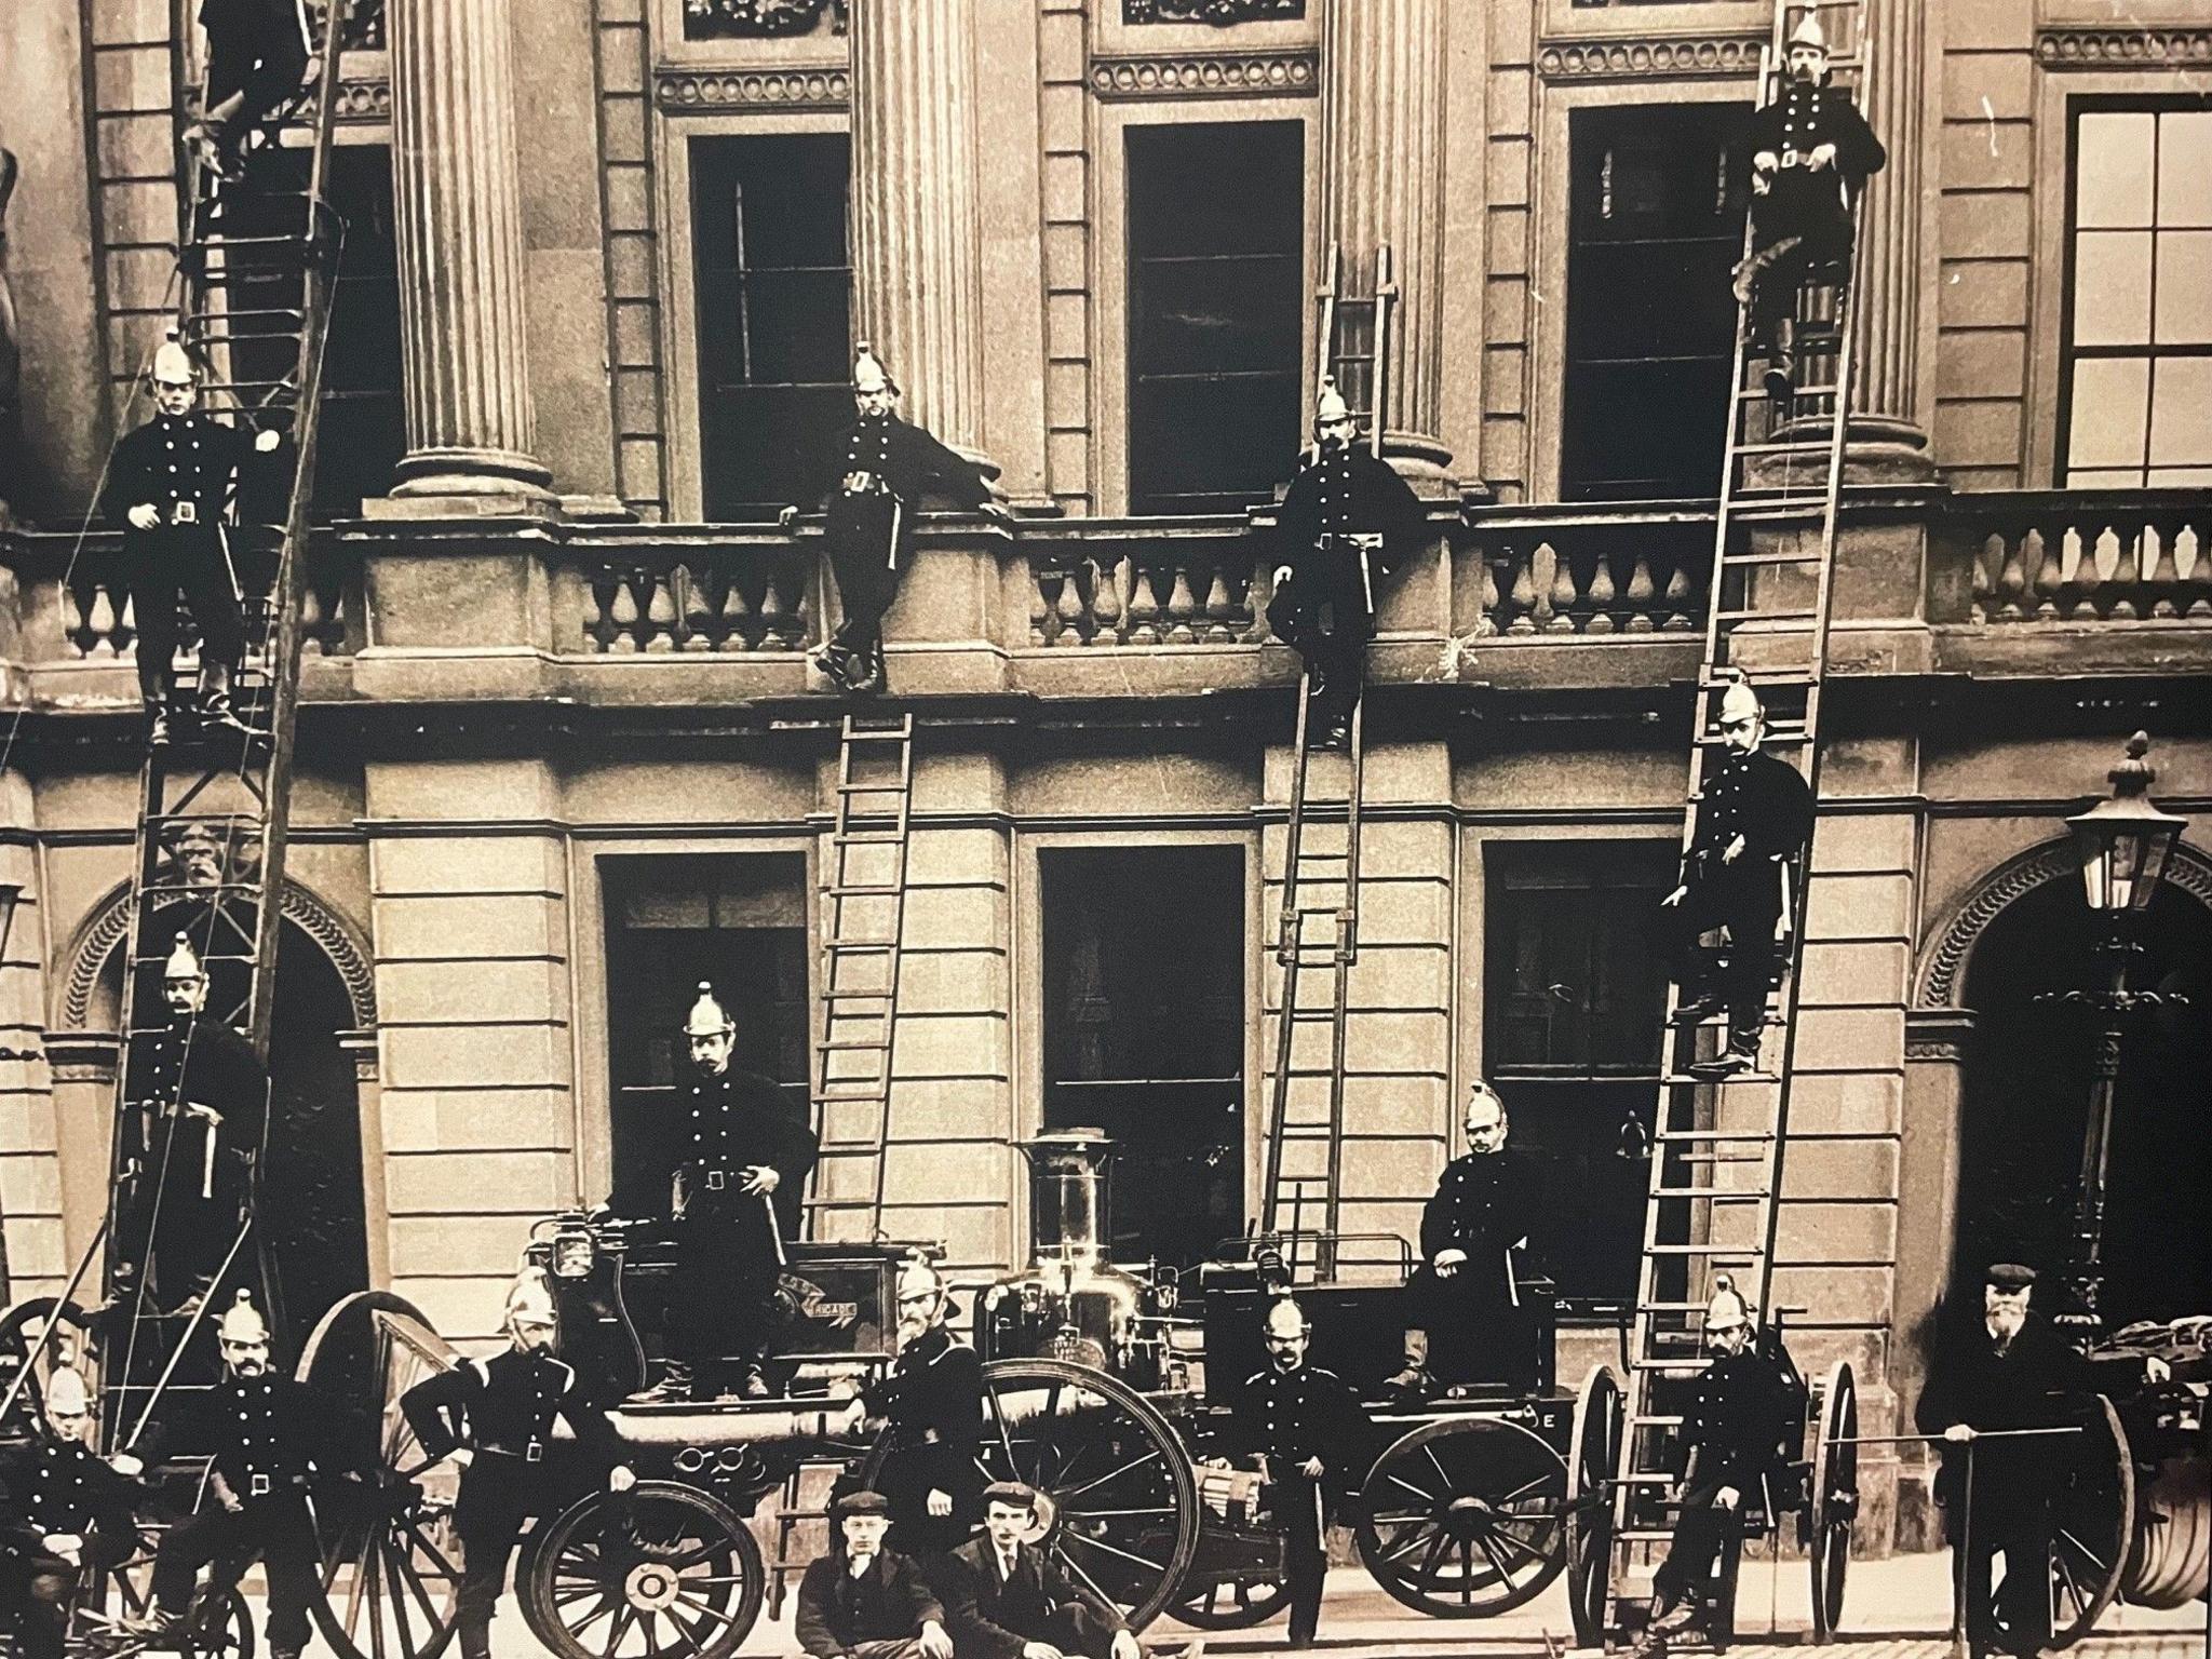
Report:
M 1376 648 L 1347 1225 L 1413 1230 L 1493 1075 L 1557 1172 L 1562 1369 L 1606 1354 L 1641 1190 L 1613 1148 L 1657 1057 L 1624 918 L 1672 869 L 1725 418 L 1694 283 L 1734 254 L 1767 7 L 387 13 L 345 66 L 349 425 L 325 425 L 288 900 L 325 1292 L 489 1334 L 529 1223 L 644 1157 L 630 1091 L 666 1079 L 648 1031 L 695 971 L 743 987 L 754 1064 L 805 1077 L 838 710 L 803 661 L 810 533 L 754 507 L 790 498 L 774 453 L 860 338 L 1018 513 L 925 524 L 889 617 L 922 728 L 889 1230 L 1013 1263 L 1013 1144 L 1102 1117 L 1175 1150 L 1124 1159 L 1139 1248 L 1177 1248 L 1144 1232 L 1159 1192 L 1250 1219 L 1296 668 L 1241 502 L 1301 438 L 1329 248 L 1356 299 L 1387 243 L 1380 422 L 1433 544 Z M 1869 1431 L 1909 1405 L 1953 1261 L 2044 1239 L 2070 1177 L 2075 1128 L 2037 1164 L 2006 1115 L 2037 1077 L 2022 1009 L 2088 971 L 2037 947 L 2075 927 L 2059 818 L 2135 728 L 2161 801 L 2212 810 L 2212 31 L 2166 13 L 1867 4 L 1891 164 L 1776 1301 L 1807 1365 L 1860 1365 Z M 0 1066 L 20 1296 L 102 1214 L 139 723 L 115 544 L 80 529 L 144 414 L 192 69 L 166 0 L 4 33 L 0 111 L 40 111 L 0 117 L 38 526 L 0 533 L 0 1040 L 44 1048 Z M 2183 980 L 2208 845 L 2154 918 Z M 2146 1066 L 2188 1077 L 2188 1042 L 2146 1035 Z M 2197 1177 L 2146 1121 L 2117 1157 L 2157 1217 Z M 2201 1261 L 2139 1279 L 2143 1314 L 2212 1296 Z M 2197 1303 L 2159 1307 L 2168 1281 Z

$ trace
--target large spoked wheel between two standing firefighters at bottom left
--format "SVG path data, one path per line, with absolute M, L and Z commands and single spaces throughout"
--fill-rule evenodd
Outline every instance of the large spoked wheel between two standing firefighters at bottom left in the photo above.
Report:
M 431 1659 L 453 1639 L 458 1478 L 425 1469 L 400 1396 L 449 1371 L 453 1349 L 407 1301 L 363 1290 L 316 1323 L 299 1378 L 338 1407 L 336 1462 L 363 1475 L 314 1498 L 321 1593 L 310 1604 L 338 1659 Z M 420 1475 L 420 1480 L 418 1480 Z

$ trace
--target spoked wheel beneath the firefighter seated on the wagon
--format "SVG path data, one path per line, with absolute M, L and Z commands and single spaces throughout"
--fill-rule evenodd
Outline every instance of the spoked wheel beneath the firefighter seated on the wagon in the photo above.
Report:
M 1517 1422 L 1429 1422 L 1367 1471 L 1354 1537 L 1376 1584 L 1409 1608 L 1506 1613 L 1566 1566 L 1566 1462 Z

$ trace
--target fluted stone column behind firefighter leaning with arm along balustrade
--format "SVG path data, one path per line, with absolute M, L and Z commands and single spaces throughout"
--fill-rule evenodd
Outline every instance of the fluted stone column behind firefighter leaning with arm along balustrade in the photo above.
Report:
M 852 279 L 858 338 L 902 414 L 982 453 L 975 0 L 852 9 Z

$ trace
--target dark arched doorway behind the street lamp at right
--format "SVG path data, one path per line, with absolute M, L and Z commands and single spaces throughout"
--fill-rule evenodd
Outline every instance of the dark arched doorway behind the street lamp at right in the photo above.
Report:
M 2073 1254 L 2081 1135 L 2097 1015 L 2044 1000 L 2104 971 L 2097 922 L 2070 860 L 1975 936 L 1960 1002 L 1975 1011 L 1964 1053 L 1958 1261 L 2017 1259 L 2053 1270 Z M 2194 883 L 2192 883 L 2194 887 Z M 2128 982 L 2185 1002 L 2135 1015 L 2121 1051 L 2106 1170 L 2106 1323 L 2212 1312 L 2212 909 L 2168 880 L 2141 918 Z

